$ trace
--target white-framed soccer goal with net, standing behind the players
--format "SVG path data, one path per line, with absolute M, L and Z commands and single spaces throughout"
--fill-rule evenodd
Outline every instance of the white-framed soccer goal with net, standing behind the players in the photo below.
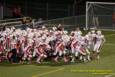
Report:
M 86 2 L 86 29 L 115 29 L 114 2 Z

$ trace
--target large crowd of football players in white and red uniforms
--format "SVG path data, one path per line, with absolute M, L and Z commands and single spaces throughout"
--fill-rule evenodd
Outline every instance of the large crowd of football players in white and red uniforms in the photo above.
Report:
M 88 62 L 99 59 L 104 42 L 100 30 L 83 35 L 79 28 L 71 32 L 63 27 L 28 27 L 26 30 L 5 28 L 0 31 L 0 62 L 31 63 L 35 60 L 36 63 L 42 63 L 46 59 L 57 63 Z

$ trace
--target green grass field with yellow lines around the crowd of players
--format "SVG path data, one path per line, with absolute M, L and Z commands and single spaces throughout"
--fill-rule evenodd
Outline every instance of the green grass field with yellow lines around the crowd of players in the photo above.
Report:
M 0 64 L 0 77 L 105 77 L 106 74 L 93 74 L 103 70 L 115 73 L 115 32 L 104 31 L 106 43 L 101 50 L 101 59 L 88 63 L 75 64 Z M 95 71 L 95 72 L 93 72 Z M 104 72 L 105 71 L 105 72 Z M 115 77 L 111 75 L 110 77 Z

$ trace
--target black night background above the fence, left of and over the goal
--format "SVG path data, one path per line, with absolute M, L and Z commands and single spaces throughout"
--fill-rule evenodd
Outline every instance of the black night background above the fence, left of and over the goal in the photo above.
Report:
M 88 0 L 108 2 L 108 0 Z M 115 0 L 109 0 L 115 2 Z M 85 14 L 85 0 L 0 0 L 7 9 L 19 6 L 22 14 L 34 18 L 54 19 Z M 5 13 L 7 16 L 7 13 Z

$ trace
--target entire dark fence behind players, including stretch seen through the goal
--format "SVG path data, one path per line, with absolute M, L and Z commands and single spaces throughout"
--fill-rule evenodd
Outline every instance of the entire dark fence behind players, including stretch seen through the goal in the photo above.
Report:
M 58 18 L 45 21 L 48 27 L 56 26 L 58 24 L 64 25 L 65 28 L 74 29 L 76 27 L 85 28 L 86 21 L 85 15 L 73 16 Z M 115 29 L 115 22 L 112 19 L 112 15 L 98 15 L 96 18 L 89 18 L 88 28 L 97 28 L 97 29 Z

